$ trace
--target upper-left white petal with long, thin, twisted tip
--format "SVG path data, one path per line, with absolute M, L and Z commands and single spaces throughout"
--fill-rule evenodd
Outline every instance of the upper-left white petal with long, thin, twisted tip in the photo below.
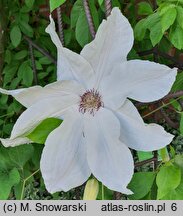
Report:
M 77 80 L 88 87 L 94 72 L 91 65 L 79 54 L 64 48 L 55 31 L 55 23 L 50 16 L 50 24 L 46 28 L 57 47 L 57 80 Z

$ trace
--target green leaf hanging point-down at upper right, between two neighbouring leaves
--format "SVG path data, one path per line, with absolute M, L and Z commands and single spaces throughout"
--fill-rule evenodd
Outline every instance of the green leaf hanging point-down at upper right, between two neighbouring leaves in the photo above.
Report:
M 150 29 L 150 39 L 154 46 L 160 42 L 163 37 L 161 24 L 158 22 Z

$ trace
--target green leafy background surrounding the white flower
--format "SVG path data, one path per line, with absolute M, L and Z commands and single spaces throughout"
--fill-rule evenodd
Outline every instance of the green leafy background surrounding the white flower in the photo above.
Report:
M 179 68 L 168 96 L 150 104 L 134 101 L 146 122 L 162 124 L 176 137 L 158 152 L 132 152 L 136 172 L 129 188 L 133 195 L 99 184 L 97 199 L 183 199 L 183 0 L 0 0 L 0 85 L 16 89 L 56 80 L 56 48 L 45 33 L 50 8 L 64 46 L 80 52 L 110 12 L 110 4 L 121 9 L 134 29 L 128 59 Z M 0 95 L 1 137 L 10 135 L 23 110 L 11 97 Z M 55 119 L 43 121 L 29 135 L 34 144 L 0 146 L 0 199 L 82 199 L 84 185 L 49 194 L 39 172 L 45 139 L 59 124 Z

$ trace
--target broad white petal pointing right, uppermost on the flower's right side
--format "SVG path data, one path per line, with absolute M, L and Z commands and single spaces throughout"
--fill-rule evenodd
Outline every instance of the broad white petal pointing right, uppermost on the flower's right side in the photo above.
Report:
M 100 91 L 104 95 L 104 103 L 112 108 L 119 108 L 127 97 L 151 102 L 168 94 L 176 74 L 176 68 L 150 61 L 131 60 L 118 64 L 109 76 L 104 77 Z

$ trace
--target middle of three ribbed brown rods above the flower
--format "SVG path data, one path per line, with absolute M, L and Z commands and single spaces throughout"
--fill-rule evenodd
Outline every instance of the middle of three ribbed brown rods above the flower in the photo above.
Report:
M 85 10 L 85 14 L 86 14 L 86 18 L 87 18 L 87 22 L 88 22 L 88 26 L 89 26 L 91 36 L 94 39 L 96 32 L 95 32 L 95 26 L 94 26 L 93 18 L 92 18 L 92 15 L 91 15 L 88 0 L 83 0 L 83 6 L 84 6 L 84 10 Z

